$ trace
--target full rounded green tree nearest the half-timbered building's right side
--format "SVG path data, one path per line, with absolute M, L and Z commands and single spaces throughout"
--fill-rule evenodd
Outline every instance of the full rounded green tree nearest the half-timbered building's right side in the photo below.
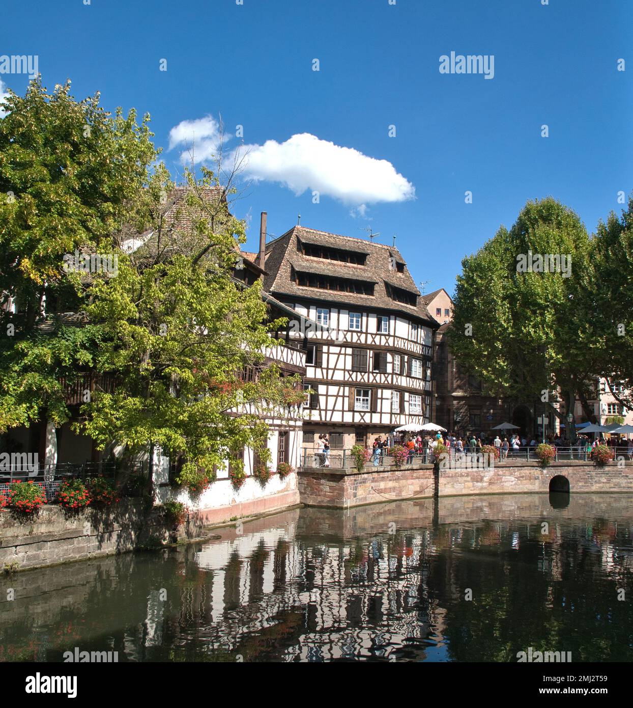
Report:
M 556 272 L 551 261 L 547 272 L 535 272 L 537 254 L 568 260 Z M 511 229 L 500 227 L 464 258 L 448 337 L 455 357 L 490 394 L 538 397 L 564 418 L 552 405 L 560 392 L 567 411 L 577 396 L 593 416 L 588 398 L 602 343 L 587 326 L 595 316 L 590 254 L 579 217 L 546 198 L 528 202 Z

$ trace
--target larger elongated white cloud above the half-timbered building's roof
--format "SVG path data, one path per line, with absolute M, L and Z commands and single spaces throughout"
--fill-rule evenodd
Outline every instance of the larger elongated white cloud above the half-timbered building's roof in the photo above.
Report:
M 309 133 L 293 135 L 282 143 L 267 140 L 245 149 L 245 176 L 279 182 L 296 195 L 317 191 L 320 196 L 356 206 L 360 215 L 364 215 L 368 203 L 402 202 L 415 196 L 412 183 L 389 161 Z

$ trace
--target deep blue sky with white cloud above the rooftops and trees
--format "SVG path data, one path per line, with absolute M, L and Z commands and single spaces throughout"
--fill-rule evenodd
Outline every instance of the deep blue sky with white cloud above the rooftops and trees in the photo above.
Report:
M 206 118 L 190 125 L 204 147 L 209 116 L 229 134 L 243 125 L 260 177 L 235 208 L 252 219 L 250 250 L 260 211 L 274 236 L 300 212 L 315 229 L 397 234 L 426 292 L 453 292 L 461 258 L 526 200 L 553 195 L 591 232 L 633 189 L 629 0 L 31 0 L 2 12 L 0 55 L 37 55 L 49 88 L 68 77 L 76 98 L 98 90 L 108 110 L 149 112 L 174 174 L 175 126 Z M 494 55 L 494 78 L 441 74 L 451 51 Z M 0 80 L 18 93 L 27 82 Z M 303 134 L 315 138 L 291 140 Z

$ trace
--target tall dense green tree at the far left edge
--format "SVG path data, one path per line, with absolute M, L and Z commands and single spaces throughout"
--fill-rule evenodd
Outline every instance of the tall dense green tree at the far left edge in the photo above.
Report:
M 149 116 L 115 116 L 98 93 L 75 101 L 70 82 L 9 94 L 0 120 L 0 432 L 69 419 L 62 377 L 93 365 L 100 332 L 46 313 L 81 309 L 86 295 L 63 258 L 82 246 L 112 250 L 112 233 L 156 159 Z M 13 305 L 18 314 L 13 314 Z

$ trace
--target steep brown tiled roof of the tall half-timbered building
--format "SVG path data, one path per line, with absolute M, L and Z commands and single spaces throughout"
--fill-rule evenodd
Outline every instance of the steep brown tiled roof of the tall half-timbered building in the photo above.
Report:
M 352 265 L 341 261 L 303 256 L 297 249 L 297 240 L 313 243 L 315 239 L 318 239 L 319 245 L 354 251 L 355 253 L 366 253 L 366 265 Z M 279 236 L 278 239 L 267 244 L 265 263 L 267 276 L 264 279 L 264 288 L 267 292 L 271 292 L 277 297 L 294 295 L 340 302 L 341 304 L 357 304 L 363 307 L 408 312 L 419 316 L 421 319 L 428 320 L 429 324 L 435 324 L 435 321 L 429 316 L 426 304 L 419 297 L 419 290 L 406 265 L 403 273 L 392 270 L 391 257 L 396 262 L 405 263 L 400 251 L 394 246 L 385 246 L 385 244 L 377 244 L 365 239 L 355 239 L 352 236 L 340 236 L 339 234 L 329 234 L 315 229 L 295 226 L 283 236 Z M 352 292 L 337 292 L 296 285 L 296 282 L 291 278 L 291 266 L 295 270 L 333 275 L 337 278 L 374 282 L 376 283 L 374 295 L 360 295 Z M 417 296 L 417 305 L 413 306 L 391 299 L 387 294 L 385 282 Z

